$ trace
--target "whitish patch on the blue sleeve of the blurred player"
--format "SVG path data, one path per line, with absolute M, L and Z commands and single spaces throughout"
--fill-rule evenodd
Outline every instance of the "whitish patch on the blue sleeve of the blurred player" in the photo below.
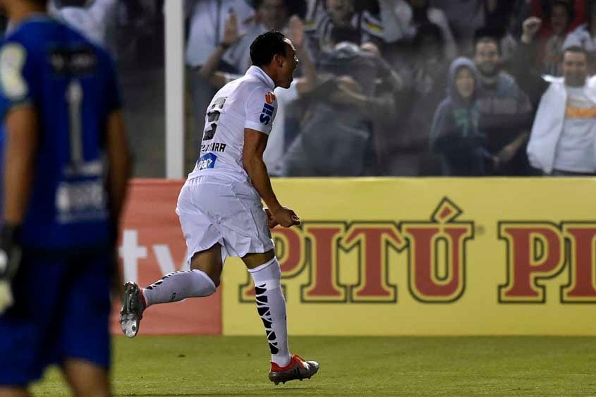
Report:
M 10 43 L 0 50 L 0 85 L 2 94 L 9 100 L 22 100 L 29 93 L 23 77 L 27 50 L 18 43 Z

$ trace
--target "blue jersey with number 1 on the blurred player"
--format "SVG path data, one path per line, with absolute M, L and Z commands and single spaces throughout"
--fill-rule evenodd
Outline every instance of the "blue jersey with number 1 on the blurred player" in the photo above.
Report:
M 110 243 L 106 125 L 121 106 L 110 56 L 52 18 L 23 21 L 0 48 L 2 119 L 19 106 L 32 106 L 39 117 L 23 247 L 79 250 Z

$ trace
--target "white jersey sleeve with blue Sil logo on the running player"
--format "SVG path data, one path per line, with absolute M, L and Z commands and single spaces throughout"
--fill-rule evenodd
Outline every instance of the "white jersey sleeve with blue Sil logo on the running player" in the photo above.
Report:
M 276 114 L 277 98 L 275 94 L 265 87 L 255 88 L 246 101 L 244 128 L 254 129 L 269 135 Z

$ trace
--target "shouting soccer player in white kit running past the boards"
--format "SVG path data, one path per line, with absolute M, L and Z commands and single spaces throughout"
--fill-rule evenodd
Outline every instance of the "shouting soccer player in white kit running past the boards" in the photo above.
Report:
M 288 348 L 281 269 L 269 228 L 299 225 L 300 218 L 275 197 L 263 162 L 277 110 L 273 91 L 290 87 L 298 60 L 280 32 L 257 37 L 250 57 L 246 75 L 225 85 L 209 104 L 200 158 L 178 197 L 190 271 L 170 273 L 145 289 L 126 283 L 120 326 L 134 337 L 148 306 L 213 294 L 226 256 L 238 256 L 254 280 L 271 350 L 269 379 L 278 384 L 310 378 L 319 369 Z

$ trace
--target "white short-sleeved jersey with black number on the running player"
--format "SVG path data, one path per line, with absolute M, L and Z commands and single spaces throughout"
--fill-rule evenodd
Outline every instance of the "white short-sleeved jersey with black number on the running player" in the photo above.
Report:
M 188 179 L 217 176 L 246 182 L 242 150 L 244 129 L 269 135 L 277 113 L 275 83 L 260 67 L 251 66 L 246 75 L 226 84 L 207 108 L 201 154 Z

